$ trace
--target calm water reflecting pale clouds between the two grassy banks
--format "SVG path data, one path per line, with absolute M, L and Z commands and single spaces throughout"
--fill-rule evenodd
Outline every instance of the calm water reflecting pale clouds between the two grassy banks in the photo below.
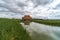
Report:
M 35 22 L 30 23 L 30 25 L 21 24 L 32 40 L 60 40 L 60 27 Z

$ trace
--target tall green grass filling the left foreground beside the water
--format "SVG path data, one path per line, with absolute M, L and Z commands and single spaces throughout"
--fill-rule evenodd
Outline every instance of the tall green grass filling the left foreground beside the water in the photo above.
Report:
M 0 40 L 30 40 L 17 19 L 0 18 Z

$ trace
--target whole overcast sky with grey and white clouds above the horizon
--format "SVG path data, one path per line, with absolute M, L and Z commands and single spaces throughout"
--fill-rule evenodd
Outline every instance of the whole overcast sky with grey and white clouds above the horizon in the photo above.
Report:
M 0 0 L 0 18 L 60 19 L 60 0 Z

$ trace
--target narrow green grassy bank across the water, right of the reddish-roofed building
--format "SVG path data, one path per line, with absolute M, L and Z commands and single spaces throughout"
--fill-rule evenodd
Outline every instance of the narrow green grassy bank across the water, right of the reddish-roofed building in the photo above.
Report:
M 60 20 L 33 20 L 37 23 L 42 23 L 46 25 L 52 25 L 52 26 L 60 26 Z

